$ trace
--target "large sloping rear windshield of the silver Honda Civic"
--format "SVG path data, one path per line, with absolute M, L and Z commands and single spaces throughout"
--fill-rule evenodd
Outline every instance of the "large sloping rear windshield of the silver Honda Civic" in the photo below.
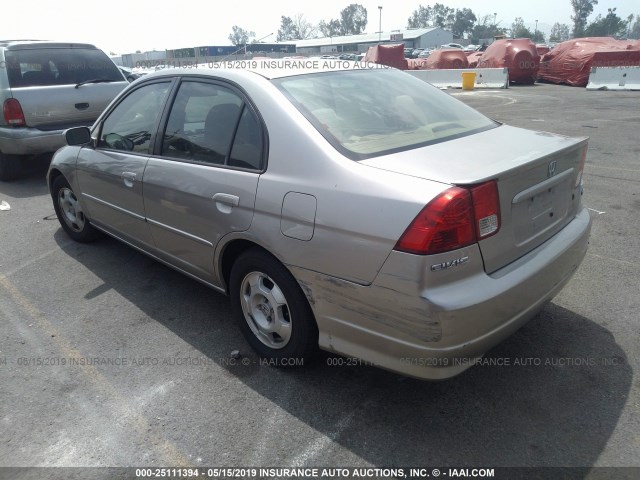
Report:
M 398 70 L 323 72 L 274 83 L 334 147 L 354 160 L 497 126 L 450 95 Z

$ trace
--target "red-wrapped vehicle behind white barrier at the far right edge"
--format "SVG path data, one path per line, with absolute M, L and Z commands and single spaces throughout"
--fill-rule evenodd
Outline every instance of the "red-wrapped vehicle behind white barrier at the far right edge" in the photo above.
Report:
M 574 38 L 559 43 L 540 62 L 540 80 L 584 87 L 591 67 L 640 66 L 640 41 L 610 37 Z

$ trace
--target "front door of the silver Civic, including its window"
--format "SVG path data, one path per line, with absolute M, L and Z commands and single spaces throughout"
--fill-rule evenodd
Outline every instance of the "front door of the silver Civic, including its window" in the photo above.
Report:
M 165 79 L 132 90 L 101 122 L 97 147 L 78 156 L 78 183 L 91 221 L 145 249 L 153 240 L 142 178 L 171 86 Z

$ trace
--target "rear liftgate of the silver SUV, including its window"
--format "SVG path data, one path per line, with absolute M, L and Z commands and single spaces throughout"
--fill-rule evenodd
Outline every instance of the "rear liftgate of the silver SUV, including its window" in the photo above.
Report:
M 90 125 L 128 85 L 109 57 L 88 45 L 19 45 L 5 56 L 11 95 L 29 127 Z

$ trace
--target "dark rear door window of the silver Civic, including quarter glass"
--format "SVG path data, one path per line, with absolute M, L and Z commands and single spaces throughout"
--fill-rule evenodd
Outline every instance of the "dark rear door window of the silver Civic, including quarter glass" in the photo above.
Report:
M 255 114 L 233 90 L 185 81 L 171 107 L 163 156 L 259 169 L 262 131 Z

